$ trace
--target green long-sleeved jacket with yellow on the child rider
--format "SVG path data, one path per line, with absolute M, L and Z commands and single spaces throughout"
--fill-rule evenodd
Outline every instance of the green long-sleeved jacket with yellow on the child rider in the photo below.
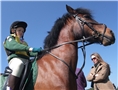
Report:
M 8 62 L 14 57 L 29 59 L 30 57 L 37 55 L 37 53 L 29 52 L 30 47 L 25 41 L 24 44 L 20 43 L 20 39 L 13 35 L 10 35 L 6 38 L 4 48 L 8 55 Z M 26 53 L 26 55 L 24 53 Z

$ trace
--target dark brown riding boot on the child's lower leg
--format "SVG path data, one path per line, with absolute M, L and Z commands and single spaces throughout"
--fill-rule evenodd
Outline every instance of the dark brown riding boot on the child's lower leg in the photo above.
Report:
M 8 86 L 10 87 L 10 90 L 19 90 L 19 85 L 20 85 L 20 78 L 10 75 L 8 81 Z

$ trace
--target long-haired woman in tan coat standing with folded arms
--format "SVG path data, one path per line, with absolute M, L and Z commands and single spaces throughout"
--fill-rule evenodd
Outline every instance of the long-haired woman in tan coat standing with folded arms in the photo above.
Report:
M 87 80 L 92 83 L 94 90 L 115 90 L 114 85 L 109 80 L 110 66 L 107 64 L 98 53 L 91 54 L 91 60 L 94 63 Z

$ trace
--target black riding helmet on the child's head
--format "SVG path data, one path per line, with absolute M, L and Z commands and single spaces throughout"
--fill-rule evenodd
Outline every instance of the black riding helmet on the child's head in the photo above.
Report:
M 18 28 L 18 27 L 23 27 L 24 28 L 24 32 L 26 31 L 26 27 L 27 27 L 27 23 L 24 21 L 15 21 L 11 24 L 10 26 L 10 34 L 12 33 L 12 29 Z

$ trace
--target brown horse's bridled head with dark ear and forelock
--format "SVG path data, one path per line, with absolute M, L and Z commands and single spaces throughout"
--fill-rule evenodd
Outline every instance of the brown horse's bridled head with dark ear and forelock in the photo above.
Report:
M 101 43 L 104 46 L 111 45 L 115 42 L 115 36 L 112 30 L 107 28 L 105 24 L 95 21 L 88 9 L 73 9 L 68 5 L 66 5 L 66 9 L 71 15 L 73 15 L 75 22 L 78 24 L 77 27 L 81 29 L 81 31 L 78 31 L 77 28 L 75 28 L 74 31 L 76 35 L 78 33 L 81 38 L 83 36 L 93 36 L 93 38 L 88 40 L 89 42 Z

